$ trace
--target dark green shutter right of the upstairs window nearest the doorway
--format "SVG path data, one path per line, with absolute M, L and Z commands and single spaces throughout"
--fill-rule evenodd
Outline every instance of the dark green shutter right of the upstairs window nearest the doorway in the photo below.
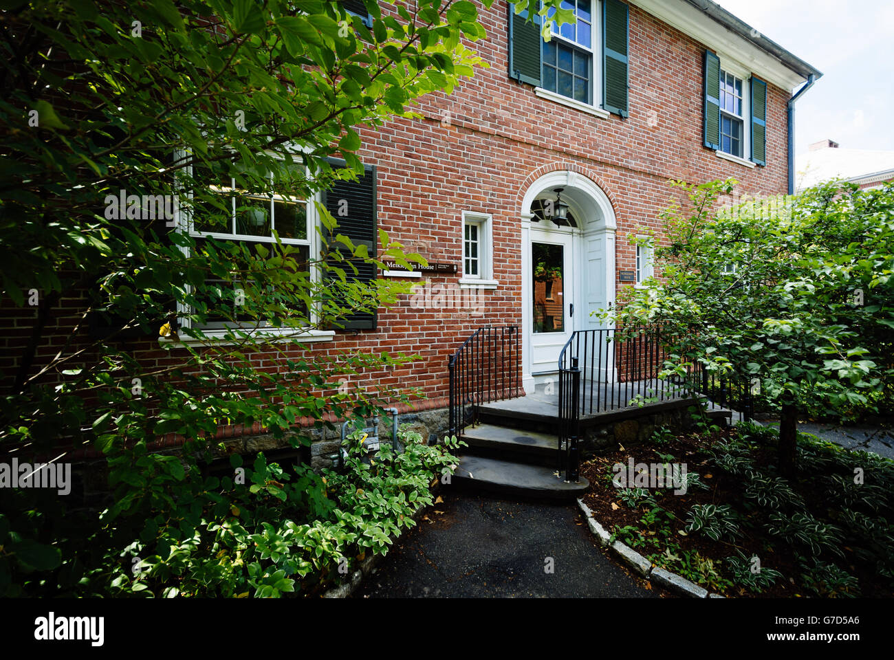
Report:
M 603 2 L 603 108 L 628 116 L 630 9 L 619 0 Z

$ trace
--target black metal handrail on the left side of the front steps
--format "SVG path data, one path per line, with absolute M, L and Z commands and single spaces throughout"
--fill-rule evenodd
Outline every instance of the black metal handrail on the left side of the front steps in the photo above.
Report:
M 451 355 L 451 436 L 460 437 L 469 424 L 477 423 L 482 403 L 522 394 L 519 355 L 519 326 L 479 327 Z

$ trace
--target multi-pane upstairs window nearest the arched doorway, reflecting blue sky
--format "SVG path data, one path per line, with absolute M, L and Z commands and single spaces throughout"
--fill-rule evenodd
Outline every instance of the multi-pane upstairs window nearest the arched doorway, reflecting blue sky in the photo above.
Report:
M 552 39 L 543 46 L 544 89 L 593 104 L 594 0 L 562 0 L 574 10 L 576 23 L 552 24 Z M 548 16 L 552 16 L 551 10 Z

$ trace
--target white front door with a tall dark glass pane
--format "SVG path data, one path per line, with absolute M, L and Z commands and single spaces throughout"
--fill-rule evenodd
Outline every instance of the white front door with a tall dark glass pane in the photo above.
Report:
M 540 382 L 559 370 L 559 353 L 574 331 L 575 263 L 573 234 L 568 230 L 531 228 L 528 263 L 528 338 L 531 375 Z M 540 378 L 538 378 L 538 375 Z

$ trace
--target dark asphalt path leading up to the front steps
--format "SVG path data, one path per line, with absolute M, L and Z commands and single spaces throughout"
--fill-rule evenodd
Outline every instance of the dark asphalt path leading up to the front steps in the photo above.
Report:
M 657 597 L 595 546 L 577 505 L 442 493 L 355 597 Z M 437 513 L 440 511 L 443 513 Z M 554 571 L 547 573 L 547 557 Z

